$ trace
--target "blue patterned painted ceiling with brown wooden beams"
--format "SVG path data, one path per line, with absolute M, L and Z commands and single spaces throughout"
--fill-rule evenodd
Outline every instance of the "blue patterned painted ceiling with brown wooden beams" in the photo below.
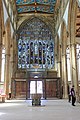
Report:
M 53 13 L 56 0 L 16 0 L 18 13 Z

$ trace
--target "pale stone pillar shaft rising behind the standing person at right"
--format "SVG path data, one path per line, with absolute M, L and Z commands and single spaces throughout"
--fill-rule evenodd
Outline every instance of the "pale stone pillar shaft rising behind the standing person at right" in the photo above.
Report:
M 79 100 L 79 83 L 78 83 L 78 73 L 77 73 L 77 60 L 76 60 L 76 45 L 71 45 L 71 78 L 72 78 L 72 85 L 74 85 L 76 91 L 76 98 L 77 101 Z

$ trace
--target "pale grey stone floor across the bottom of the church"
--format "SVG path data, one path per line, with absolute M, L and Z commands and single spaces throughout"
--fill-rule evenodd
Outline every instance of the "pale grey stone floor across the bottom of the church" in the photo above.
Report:
M 80 103 L 44 100 L 34 107 L 28 100 L 8 100 L 0 103 L 0 120 L 80 120 Z

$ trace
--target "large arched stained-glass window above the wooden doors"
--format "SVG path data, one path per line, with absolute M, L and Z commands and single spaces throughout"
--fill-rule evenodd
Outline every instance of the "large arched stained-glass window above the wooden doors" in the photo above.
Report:
M 54 40 L 49 27 L 37 18 L 18 30 L 18 68 L 53 68 Z

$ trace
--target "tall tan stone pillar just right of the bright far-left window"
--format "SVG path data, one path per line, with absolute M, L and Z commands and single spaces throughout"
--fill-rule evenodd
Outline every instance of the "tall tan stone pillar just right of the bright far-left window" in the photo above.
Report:
M 5 94 L 9 98 L 9 84 L 10 84 L 10 26 L 9 21 L 6 24 L 6 53 L 5 53 Z

